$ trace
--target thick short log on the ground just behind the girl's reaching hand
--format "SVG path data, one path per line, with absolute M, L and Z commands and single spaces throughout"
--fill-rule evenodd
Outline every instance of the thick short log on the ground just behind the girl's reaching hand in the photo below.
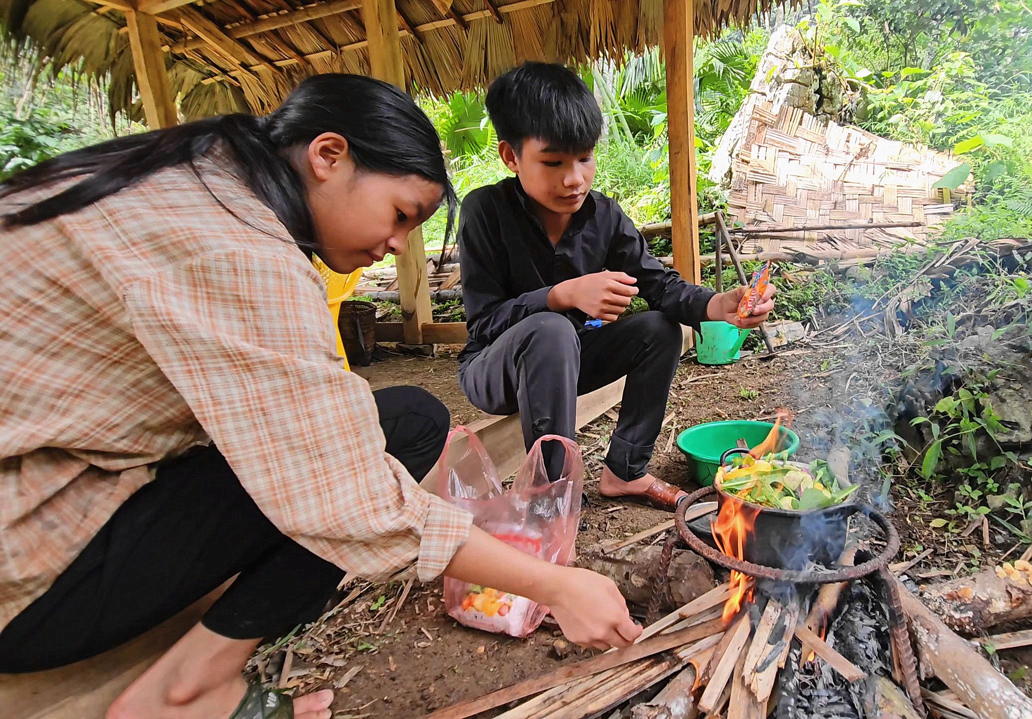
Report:
M 592 547 L 577 557 L 577 565 L 616 582 L 627 602 L 644 611 L 652 596 L 652 580 L 662 550 L 659 546 L 632 545 L 613 554 L 603 554 L 600 548 Z M 716 586 L 709 562 L 687 550 L 674 550 L 667 578 L 659 603 L 659 610 L 666 612 L 688 603 Z

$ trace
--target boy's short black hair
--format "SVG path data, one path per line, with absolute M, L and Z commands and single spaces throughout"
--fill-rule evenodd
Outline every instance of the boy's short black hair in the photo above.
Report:
M 497 77 L 487 91 L 487 113 L 499 140 L 519 154 L 538 138 L 562 153 L 591 150 L 602 135 L 602 110 L 575 72 L 527 62 Z

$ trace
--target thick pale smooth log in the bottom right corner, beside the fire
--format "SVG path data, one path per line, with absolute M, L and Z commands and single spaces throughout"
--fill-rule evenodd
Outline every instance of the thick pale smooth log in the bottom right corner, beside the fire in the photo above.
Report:
M 963 704 L 983 719 L 1032 719 L 1032 700 L 901 582 L 893 581 L 922 659 Z

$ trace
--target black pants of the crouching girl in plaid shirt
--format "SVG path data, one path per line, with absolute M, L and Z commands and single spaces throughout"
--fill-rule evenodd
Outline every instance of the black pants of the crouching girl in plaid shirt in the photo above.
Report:
M 448 410 L 417 387 L 374 395 L 387 452 L 422 479 L 444 448 Z M 265 518 L 218 449 L 194 448 L 159 466 L 154 482 L 129 497 L 46 593 L 0 632 L 0 673 L 99 654 L 237 574 L 202 620 L 231 639 L 278 636 L 314 621 L 344 578 Z

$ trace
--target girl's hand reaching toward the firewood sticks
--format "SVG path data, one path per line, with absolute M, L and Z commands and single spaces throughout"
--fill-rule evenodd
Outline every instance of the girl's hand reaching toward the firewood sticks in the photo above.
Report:
M 543 587 L 552 616 L 574 644 L 606 650 L 627 647 L 642 633 L 612 580 L 589 569 L 555 566 Z

